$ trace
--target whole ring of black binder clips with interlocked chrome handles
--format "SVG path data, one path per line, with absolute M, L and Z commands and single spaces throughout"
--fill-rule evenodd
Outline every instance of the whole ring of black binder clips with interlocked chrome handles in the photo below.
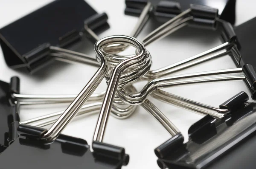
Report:
M 103 141 L 108 118 L 109 115 L 128 118 L 139 105 L 170 134 L 170 139 L 163 140 L 163 144 L 148 147 L 157 156 L 156 163 L 161 169 L 255 168 L 256 103 L 249 98 L 256 100 L 253 56 L 256 18 L 233 26 L 235 0 L 126 0 L 125 3 L 125 14 L 139 16 L 129 36 L 99 39 L 97 34 L 109 28 L 108 16 L 98 14 L 84 0 L 55 0 L 0 29 L 6 64 L 17 71 L 42 71 L 45 65 L 55 61 L 79 62 L 85 64 L 85 68 L 86 65 L 98 68 L 78 95 L 27 95 L 20 91 L 18 77 L 12 77 L 10 82 L 0 81 L 0 168 L 120 169 L 128 165 L 129 155 L 123 147 Z M 136 37 L 149 18 L 163 25 L 139 41 Z M 154 56 L 147 45 L 184 26 L 218 31 L 223 43 L 152 70 Z M 68 49 L 80 43 L 82 37 L 95 43 L 95 58 Z M 134 54 L 120 55 L 128 46 L 136 48 Z M 172 75 L 225 55 L 233 59 L 236 68 Z M 94 93 L 104 78 L 108 87 L 102 93 Z M 233 80 L 242 80 L 250 93 L 241 91 L 219 107 L 162 90 L 177 85 Z M 133 86 L 138 81 L 147 81 L 140 91 Z M 186 133 L 181 133 L 148 96 L 202 115 L 201 120 L 189 128 L 189 141 L 184 142 Z M 23 105 L 59 103 L 69 103 L 69 106 L 64 111 L 27 121 L 19 118 Z M 73 118 L 84 118 L 87 114 L 99 116 L 95 128 L 91 128 L 95 130 L 92 143 L 61 134 Z

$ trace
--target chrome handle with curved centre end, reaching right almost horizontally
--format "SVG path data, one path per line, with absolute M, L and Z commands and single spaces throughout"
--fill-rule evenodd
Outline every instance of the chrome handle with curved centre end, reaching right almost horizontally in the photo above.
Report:
M 188 85 L 195 83 L 204 82 L 220 82 L 220 81 L 230 81 L 230 80 L 244 80 L 246 77 L 244 74 L 236 75 L 232 72 L 241 72 L 241 68 L 231 69 L 231 70 L 216 70 L 204 73 L 191 73 L 188 75 L 172 76 L 166 78 L 154 79 L 148 82 L 145 87 L 139 93 L 127 92 L 124 88 L 120 87 L 117 91 L 119 97 L 125 101 L 127 104 L 139 105 L 150 95 L 154 90 L 159 90 L 165 87 L 172 87 L 176 85 Z M 229 74 L 231 75 L 225 75 Z M 215 76 L 218 74 L 223 74 L 224 76 Z M 204 77 L 207 76 L 207 77 Z M 192 78 L 200 77 L 200 78 Z

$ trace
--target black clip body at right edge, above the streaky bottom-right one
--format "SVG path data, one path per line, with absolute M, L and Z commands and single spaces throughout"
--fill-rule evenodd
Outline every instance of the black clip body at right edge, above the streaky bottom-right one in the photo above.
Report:
M 256 44 L 254 39 L 256 38 L 256 18 L 236 27 L 231 26 L 226 21 L 219 21 L 222 25 L 221 40 L 233 43 L 233 46 L 230 48 L 230 56 L 237 67 L 243 68 L 244 75 L 246 76 L 245 82 L 252 93 L 252 99 L 255 100 L 256 59 L 254 48 Z

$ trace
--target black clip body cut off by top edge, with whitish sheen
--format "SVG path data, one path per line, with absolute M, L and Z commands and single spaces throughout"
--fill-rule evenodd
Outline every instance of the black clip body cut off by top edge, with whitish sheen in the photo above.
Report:
M 202 23 L 212 23 L 208 19 L 218 17 L 231 24 L 235 23 L 236 0 L 215 0 L 214 2 L 210 0 L 125 0 L 125 14 L 138 15 L 142 12 L 145 4 L 149 2 L 153 4 L 154 10 L 152 14 L 159 22 L 167 22 L 187 9 L 192 8 L 192 15 L 195 16 L 195 21 L 201 20 Z M 200 11 L 205 13 L 200 14 Z M 212 14 L 209 14 L 209 11 Z

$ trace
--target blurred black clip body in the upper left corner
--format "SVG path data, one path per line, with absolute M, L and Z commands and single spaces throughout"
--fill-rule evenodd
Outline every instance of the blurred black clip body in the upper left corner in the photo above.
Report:
M 34 72 L 52 62 L 83 34 L 95 42 L 95 32 L 108 28 L 107 14 L 98 14 L 84 0 L 55 0 L 0 29 L 0 45 L 10 68 Z

